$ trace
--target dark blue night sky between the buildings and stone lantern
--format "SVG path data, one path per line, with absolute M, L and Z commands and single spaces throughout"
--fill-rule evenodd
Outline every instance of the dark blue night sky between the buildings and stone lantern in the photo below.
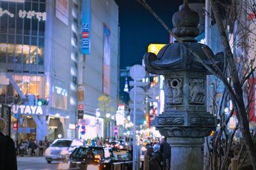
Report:
M 119 8 L 120 24 L 120 69 L 141 64 L 150 43 L 169 43 L 166 29 L 136 0 L 115 0 Z M 194 0 L 189 3 L 200 3 Z M 151 8 L 162 20 L 173 28 L 172 15 L 179 10 L 182 0 L 147 0 Z M 120 78 L 120 98 L 129 100 L 124 92 L 125 78 Z

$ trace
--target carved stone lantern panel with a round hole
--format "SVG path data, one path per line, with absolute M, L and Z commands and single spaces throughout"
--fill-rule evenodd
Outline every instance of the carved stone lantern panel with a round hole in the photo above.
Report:
M 183 79 L 173 78 L 166 83 L 166 104 L 182 104 Z

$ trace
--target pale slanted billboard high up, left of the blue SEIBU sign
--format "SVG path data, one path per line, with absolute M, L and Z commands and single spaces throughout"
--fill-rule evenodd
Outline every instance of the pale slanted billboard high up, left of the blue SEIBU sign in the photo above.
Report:
M 68 25 L 68 0 L 56 0 L 56 17 Z

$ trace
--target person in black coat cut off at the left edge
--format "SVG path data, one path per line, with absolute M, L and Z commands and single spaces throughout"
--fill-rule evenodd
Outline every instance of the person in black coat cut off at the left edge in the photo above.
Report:
M 17 170 L 17 156 L 14 141 L 3 132 L 6 122 L 0 118 L 0 169 Z

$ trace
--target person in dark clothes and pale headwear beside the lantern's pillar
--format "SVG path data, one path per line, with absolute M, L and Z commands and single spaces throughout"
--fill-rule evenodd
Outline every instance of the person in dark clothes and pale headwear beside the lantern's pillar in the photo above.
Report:
M 153 146 L 154 153 L 149 159 L 149 170 L 161 170 L 163 167 L 163 154 L 160 152 L 160 145 Z

